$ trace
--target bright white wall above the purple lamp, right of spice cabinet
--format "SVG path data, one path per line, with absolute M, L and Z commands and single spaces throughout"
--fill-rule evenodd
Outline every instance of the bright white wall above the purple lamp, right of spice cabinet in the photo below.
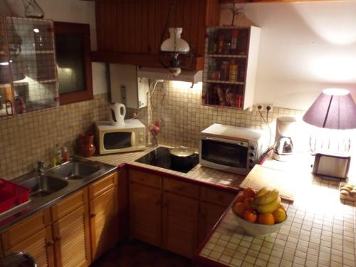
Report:
M 221 6 L 221 25 L 231 13 Z M 356 99 L 356 1 L 241 4 L 235 25 L 261 28 L 255 103 L 307 110 L 324 88 Z

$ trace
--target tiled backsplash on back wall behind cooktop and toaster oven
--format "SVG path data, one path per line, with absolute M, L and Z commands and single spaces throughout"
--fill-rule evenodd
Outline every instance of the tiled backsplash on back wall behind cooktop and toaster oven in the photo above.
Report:
M 152 94 L 152 115 L 145 108 L 138 117 L 145 125 L 152 120 L 164 120 L 159 132 L 158 142 L 164 145 L 184 145 L 197 148 L 199 133 L 213 123 L 268 129 L 257 111 L 235 110 L 233 108 L 215 108 L 201 105 L 201 83 L 190 88 L 191 83 L 164 81 L 157 83 Z M 153 88 L 151 88 L 153 90 Z M 161 105 L 162 103 L 162 105 Z M 130 110 L 132 111 L 132 110 Z M 129 116 L 131 112 L 127 112 Z M 266 120 L 266 112 L 262 112 Z M 276 132 L 276 118 L 286 115 L 300 117 L 302 110 L 273 108 L 268 114 L 271 135 Z M 273 142 L 273 139 L 271 140 Z

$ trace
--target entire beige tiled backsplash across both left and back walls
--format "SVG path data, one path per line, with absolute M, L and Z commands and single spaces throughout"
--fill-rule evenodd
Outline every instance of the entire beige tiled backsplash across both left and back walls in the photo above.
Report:
M 226 125 L 268 128 L 256 111 L 214 108 L 201 105 L 201 84 L 164 81 L 157 83 L 152 94 L 152 111 L 143 108 L 139 119 L 147 126 L 153 119 L 163 119 L 158 142 L 163 145 L 197 148 L 199 132 L 217 122 Z M 153 89 L 153 88 L 151 88 Z M 161 105 L 162 103 L 162 105 Z M 56 144 L 68 147 L 70 155 L 80 132 L 93 130 L 93 122 L 108 119 L 108 95 L 95 95 L 94 100 L 59 108 L 18 115 L 0 121 L 0 177 L 16 177 L 28 172 L 38 159 L 51 163 Z M 127 118 L 135 110 L 127 109 Z M 272 135 L 276 118 L 283 115 L 300 116 L 300 110 L 273 108 L 268 121 Z M 266 112 L 263 112 L 266 117 Z

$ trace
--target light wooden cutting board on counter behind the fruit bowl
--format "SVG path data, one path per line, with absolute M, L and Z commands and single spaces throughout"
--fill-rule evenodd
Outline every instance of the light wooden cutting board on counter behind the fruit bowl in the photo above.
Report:
M 256 191 L 262 187 L 278 189 L 281 199 L 294 201 L 293 184 L 295 181 L 295 177 L 289 172 L 282 172 L 261 165 L 255 165 L 244 181 L 241 182 L 240 188 L 245 189 L 251 187 Z

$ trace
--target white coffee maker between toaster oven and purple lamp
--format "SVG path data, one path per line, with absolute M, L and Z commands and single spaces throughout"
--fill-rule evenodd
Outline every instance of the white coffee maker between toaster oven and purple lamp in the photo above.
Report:
M 293 154 L 292 135 L 295 131 L 295 117 L 278 117 L 276 140 L 273 147 L 273 159 L 287 161 Z

